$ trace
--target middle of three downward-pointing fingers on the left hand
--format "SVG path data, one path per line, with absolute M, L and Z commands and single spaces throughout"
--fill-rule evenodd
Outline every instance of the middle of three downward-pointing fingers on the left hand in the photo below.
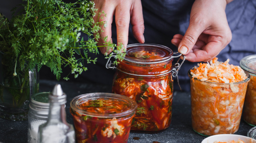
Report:
M 116 8 L 116 25 L 117 25 L 117 46 L 121 43 L 126 49 L 128 44 L 129 22 L 130 22 L 130 8 L 125 2 L 117 5 Z

